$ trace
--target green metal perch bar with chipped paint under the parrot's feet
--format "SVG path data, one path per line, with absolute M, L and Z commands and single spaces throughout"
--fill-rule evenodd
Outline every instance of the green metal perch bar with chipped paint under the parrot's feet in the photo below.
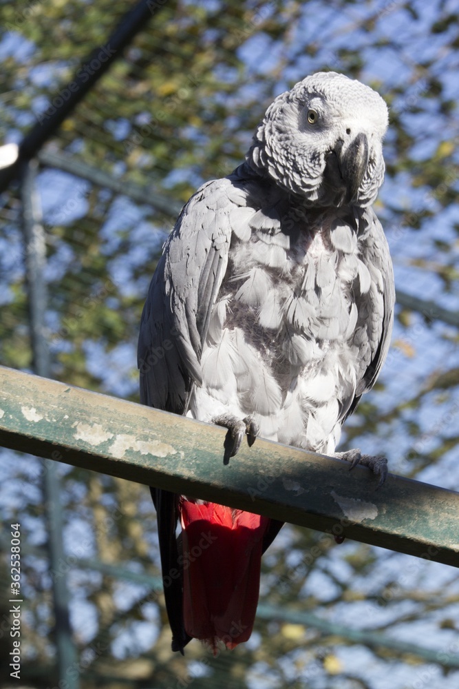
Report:
M 459 567 L 459 493 L 0 367 L 0 444 Z M 314 558 L 314 553 L 306 553 Z

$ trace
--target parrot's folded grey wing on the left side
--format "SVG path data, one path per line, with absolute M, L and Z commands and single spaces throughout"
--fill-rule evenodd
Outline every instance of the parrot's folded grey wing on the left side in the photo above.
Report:
M 201 187 L 184 206 L 151 280 L 140 323 L 140 400 L 184 413 L 231 240 L 227 178 Z

